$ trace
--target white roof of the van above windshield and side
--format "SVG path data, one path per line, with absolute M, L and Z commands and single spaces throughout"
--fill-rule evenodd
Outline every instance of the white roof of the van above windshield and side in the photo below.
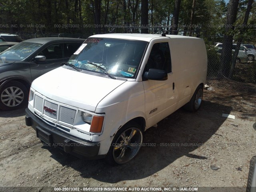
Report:
M 196 38 L 182 35 L 166 35 L 160 34 L 138 34 L 138 33 L 111 33 L 111 34 L 98 34 L 90 36 L 90 38 L 117 38 L 117 39 L 130 39 L 130 40 L 142 40 L 150 42 L 154 38 Z M 198 38 L 196 38 L 198 39 Z

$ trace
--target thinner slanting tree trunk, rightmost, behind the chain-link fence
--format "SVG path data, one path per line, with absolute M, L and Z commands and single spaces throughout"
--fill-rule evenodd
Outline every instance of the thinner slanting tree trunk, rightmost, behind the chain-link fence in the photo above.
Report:
M 250 11 L 251 11 L 251 8 L 252 8 L 252 3 L 253 3 L 253 0 L 248 0 L 248 5 L 247 5 L 246 12 L 245 12 L 245 15 L 244 15 L 243 26 L 240 29 L 240 37 L 244 34 L 244 31 L 246 29 L 244 26 L 247 25 L 249 14 L 250 14 Z M 233 58 L 232 58 L 232 65 L 231 65 L 229 78 L 232 78 L 232 76 L 234 75 L 235 67 L 236 67 L 236 58 L 238 56 L 238 52 L 239 52 L 241 43 L 242 43 L 242 38 L 239 38 L 238 42 L 236 43 L 236 50 L 235 50 Z

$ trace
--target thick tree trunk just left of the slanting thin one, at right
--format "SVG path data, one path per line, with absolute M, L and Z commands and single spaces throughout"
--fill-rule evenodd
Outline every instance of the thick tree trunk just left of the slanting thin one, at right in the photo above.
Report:
M 222 63 L 221 63 L 220 78 L 222 78 L 222 76 L 228 77 L 230 72 L 230 62 L 232 60 L 232 43 L 233 43 L 232 31 L 234 30 L 233 24 L 236 21 L 238 2 L 239 0 L 230 0 L 228 4 L 227 21 L 225 26 L 224 42 L 223 42 L 222 54 L 221 54 Z

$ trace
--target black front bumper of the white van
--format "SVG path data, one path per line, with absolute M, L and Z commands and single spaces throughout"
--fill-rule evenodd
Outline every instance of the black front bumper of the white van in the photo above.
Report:
M 71 136 L 54 126 L 46 124 L 26 108 L 26 125 L 36 130 L 36 136 L 49 146 L 57 146 L 65 152 L 82 159 L 97 159 L 100 150 L 99 142 L 90 142 Z

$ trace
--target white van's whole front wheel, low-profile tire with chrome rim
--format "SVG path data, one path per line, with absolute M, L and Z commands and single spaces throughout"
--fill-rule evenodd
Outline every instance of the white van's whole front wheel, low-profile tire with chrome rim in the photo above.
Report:
M 114 136 L 106 161 L 108 164 L 126 164 L 139 152 L 142 144 L 142 130 L 136 122 L 128 122 Z

